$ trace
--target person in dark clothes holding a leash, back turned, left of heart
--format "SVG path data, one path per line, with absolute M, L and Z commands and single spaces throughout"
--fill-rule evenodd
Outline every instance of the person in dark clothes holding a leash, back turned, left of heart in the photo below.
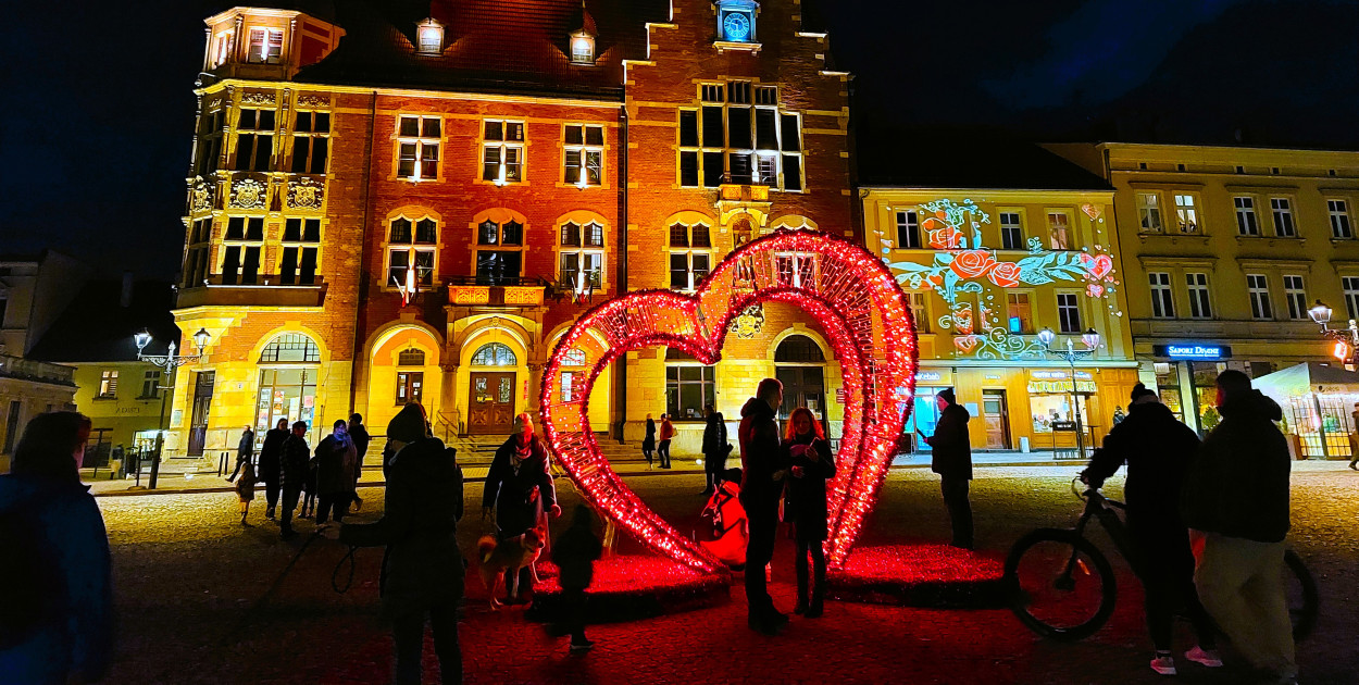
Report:
M 454 453 L 431 438 L 425 425 L 424 409 L 414 402 L 387 424 L 394 455 L 382 518 L 322 529 L 328 538 L 353 546 L 387 548 L 382 559 L 382 610 L 391 621 L 398 685 L 420 682 L 425 621 L 434 632 L 443 682 L 462 682 L 458 603 L 465 569 L 457 535 L 462 470 Z

